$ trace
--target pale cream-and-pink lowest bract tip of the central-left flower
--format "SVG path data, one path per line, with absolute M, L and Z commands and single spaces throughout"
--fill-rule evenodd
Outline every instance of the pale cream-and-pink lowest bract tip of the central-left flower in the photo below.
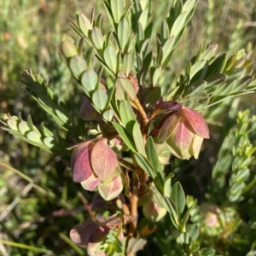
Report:
M 100 183 L 98 189 L 104 200 L 112 200 L 113 198 L 117 197 L 123 190 L 123 182 L 121 176 L 113 177 L 104 183 Z

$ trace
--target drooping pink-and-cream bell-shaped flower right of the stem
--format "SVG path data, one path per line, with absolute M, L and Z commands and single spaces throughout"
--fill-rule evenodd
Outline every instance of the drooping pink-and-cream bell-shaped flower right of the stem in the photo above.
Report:
M 201 115 L 193 109 L 181 108 L 161 125 L 158 143 L 166 141 L 178 158 L 189 159 L 194 155 L 197 159 L 204 138 L 209 138 L 209 130 Z

